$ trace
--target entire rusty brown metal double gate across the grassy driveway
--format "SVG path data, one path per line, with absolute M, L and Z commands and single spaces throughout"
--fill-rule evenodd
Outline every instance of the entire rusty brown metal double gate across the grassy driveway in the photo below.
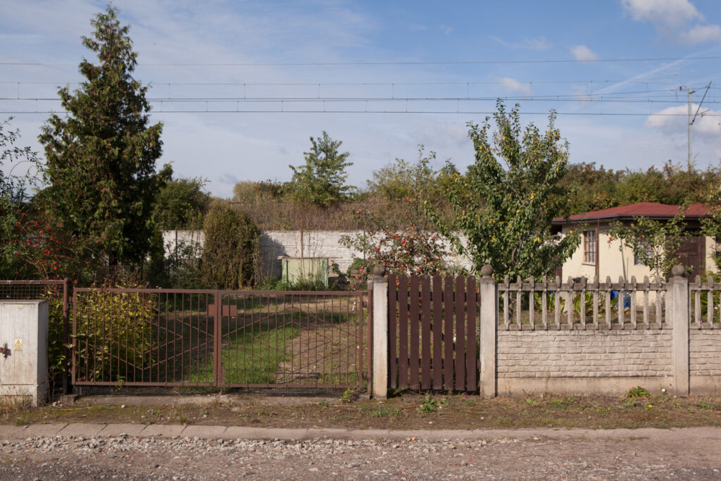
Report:
M 363 389 L 368 293 L 77 288 L 75 386 Z

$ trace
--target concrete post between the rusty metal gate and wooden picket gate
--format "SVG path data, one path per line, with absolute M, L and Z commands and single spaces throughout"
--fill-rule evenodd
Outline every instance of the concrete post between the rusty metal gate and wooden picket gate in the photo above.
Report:
M 388 397 L 388 286 L 386 268 L 373 268 L 373 364 L 371 383 L 373 397 Z

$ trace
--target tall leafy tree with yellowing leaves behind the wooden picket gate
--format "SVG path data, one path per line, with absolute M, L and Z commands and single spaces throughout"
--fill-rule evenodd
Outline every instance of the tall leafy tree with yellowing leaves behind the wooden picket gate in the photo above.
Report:
M 553 112 L 545 133 L 533 124 L 521 129 L 518 105 L 506 112 L 499 101 L 494 118 L 492 137 L 490 118 L 482 127 L 469 124 L 476 154 L 466 175 L 451 162 L 444 169 L 451 179 L 446 195 L 454 221 L 439 222 L 433 206 L 426 212 L 456 252 L 472 259 L 475 272 L 490 264 L 497 279 L 541 277 L 580 242 L 575 231 L 560 240 L 550 231 L 552 219 L 565 209 L 567 188 L 559 182 L 567 170 L 567 144 L 554 127 Z

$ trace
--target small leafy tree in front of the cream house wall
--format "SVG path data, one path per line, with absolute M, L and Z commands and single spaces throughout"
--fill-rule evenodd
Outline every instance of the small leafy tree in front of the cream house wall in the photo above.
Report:
M 689 237 L 684 221 L 685 210 L 681 207 L 676 216 L 665 222 L 647 217 L 634 217 L 629 225 L 616 222 L 609 231 L 609 242 L 621 239 L 619 250 L 624 245 L 630 247 L 634 256 L 651 269 L 655 280 L 663 282 L 665 276 L 671 273 L 671 268 L 680 262 L 678 250 Z

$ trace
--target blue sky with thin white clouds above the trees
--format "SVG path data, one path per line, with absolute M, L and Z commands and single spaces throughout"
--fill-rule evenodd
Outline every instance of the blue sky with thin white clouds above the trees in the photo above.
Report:
M 151 121 L 164 125 L 159 164 L 220 197 L 241 180 L 290 180 L 323 131 L 350 152 L 358 187 L 420 145 L 437 153 L 435 167 L 464 168 L 467 123 L 484 122 L 498 98 L 542 131 L 555 110 L 570 162 L 648 169 L 686 165 L 691 89 L 693 162 L 721 159 L 721 1 L 112 5 L 131 25 Z M 81 37 L 104 9 L 0 2 L 0 119 L 14 117 L 19 144 L 41 157 L 40 127 L 63 110 L 58 87 L 76 89 L 81 59 L 97 61 Z

